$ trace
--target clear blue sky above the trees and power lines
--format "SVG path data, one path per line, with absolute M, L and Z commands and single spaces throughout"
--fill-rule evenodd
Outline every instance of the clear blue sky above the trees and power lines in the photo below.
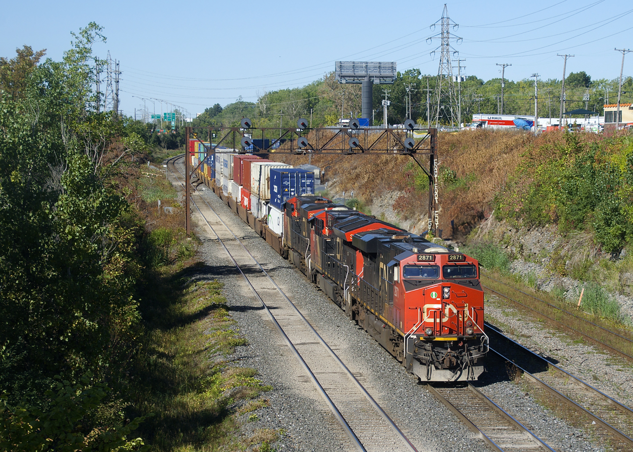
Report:
M 302 6 L 303 5 L 303 6 Z M 120 61 L 120 108 L 134 115 L 146 99 L 162 99 L 195 116 L 238 96 L 255 101 L 266 90 L 303 86 L 334 70 L 334 61 L 396 61 L 398 70 L 420 68 L 437 74 L 444 1 L 30 1 L 3 6 L 0 56 L 13 58 L 27 44 L 60 60 L 70 32 L 94 21 L 104 27 L 108 50 Z M 616 78 L 622 54 L 633 49 L 633 3 L 625 0 L 514 2 L 454 1 L 448 13 L 459 28 L 451 34 L 464 75 L 500 77 L 496 63 L 510 63 L 506 78 L 532 73 L 561 78 L 585 71 L 592 78 Z M 456 54 L 453 56 L 456 58 Z M 455 63 L 456 64 L 456 63 Z M 633 73 L 633 53 L 624 64 Z M 132 97 L 132 96 L 137 97 Z M 155 102 L 160 112 L 161 103 Z M 146 101 L 148 110 L 153 110 Z M 165 110 L 166 104 L 162 104 Z

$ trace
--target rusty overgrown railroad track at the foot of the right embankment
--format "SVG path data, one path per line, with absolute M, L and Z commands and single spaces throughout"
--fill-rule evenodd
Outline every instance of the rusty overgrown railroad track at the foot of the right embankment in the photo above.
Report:
M 548 319 L 549 322 L 555 323 L 556 325 L 563 327 L 563 329 L 573 332 L 574 334 L 579 334 L 580 336 L 587 339 L 587 341 L 592 342 L 593 344 L 596 344 L 599 347 L 605 348 L 606 350 L 611 351 L 619 356 L 622 356 L 623 358 L 626 358 L 627 360 L 633 361 L 633 355 L 630 352 L 630 350 L 633 349 L 633 340 L 630 339 L 629 337 L 622 336 L 622 334 L 618 334 L 615 331 L 602 327 L 601 325 L 591 322 L 590 320 L 587 320 L 586 318 L 583 318 L 580 315 L 576 315 L 572 312 L 569 312 L 567 310 L 559 308 L 558 306 L 548 303 L 547 301 L 544 301 L 533 295 L 527 294 L 526 292 L 515 289 L 514 287 L 511 287 L 508 284 L 505 284 L 505 282 L 499 281 L 497 279 L 490 277 L 489 275 L 486 275 L 486 273 L 482 272 L 482 276 L 498 284 L 502 284 L 503 286 L 506 286 L 512 289 L 513 291 L 518 292 L 524 298 L 528 298 L 530 300 L 536 301 L 538 304 L 542 306 L 542 309 L 537 310 L 535 308 L 527 306 L 527 304 L 521 303 L 517 299 L 511 298 L 509 295 L 496 291 L 489 286 L 485 286 L 482 283 L 482 287 L 484 287 L 484 289 L 486 289 L 487 291 L 497 294 L 498 296 L 505 298 L 508 301 L 511 301 L 512 303 L 517 304 L 518 306 L 522 306 L 522 308 L 525 308 L 531 311 L 532 313 L 535 313 L 541 317 Z M 547 313 L 544 312 L 546 310 L 553 311 L 554 314 L 548 315 Z M 570 320 L 573 320 L 573 322 L 577 323 L 577 326 L 572 327 L 569 325 L 569 323 L 561 322 L 561 320 L 557 320 L 557 318 L 554 318 L 554 317 L 568 318 Z M 588 332 L 587 330 L 590 330 L 590 331 L 592 330 L 594 332 Z M 597 336 L 596 332 L 598 332 L 601 335 L 601 338 L 596 337 Z

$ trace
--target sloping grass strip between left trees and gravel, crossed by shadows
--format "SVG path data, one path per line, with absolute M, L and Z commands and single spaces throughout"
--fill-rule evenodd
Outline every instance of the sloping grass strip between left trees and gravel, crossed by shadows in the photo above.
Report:
M 151 182 L 148 187 L 165 187 L 160 177 Z M 156 204 L 137 204 L 146 217 L 139 250 L 146 271 L 129 415 L 153 414 L 138 432 L 156 452 L 272 450 L 282 432 L 241 433 L 249 417 L 258 418 L 257 411 L 270 405 L 262 395 L 272 387 L 256 369 L 227 360 L 248 341 L 230 315 L 222 284 L 196 261 L 199 241 L 185 235 L 184 211 L 173 205 L 173 215 L 165 215 Z

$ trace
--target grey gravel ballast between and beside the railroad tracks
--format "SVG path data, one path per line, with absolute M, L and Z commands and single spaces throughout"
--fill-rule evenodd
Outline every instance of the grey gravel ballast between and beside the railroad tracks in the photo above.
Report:
M 349 321 L 338 306 L 318 291 L 288 261 L 276 254 L 211 190 L 202 191 L 201 196 L 235 234 L 244 239 L 253 256 L 296 303 L 313 327 L 329 342 L 335 353 L 418 450 L 452 452 L 487 449 L 483 441 L 475 437 L 444 405 L 429 394 L 417 377 L 407 374 L 395 358 L 355 323 Z M 262 428 L 284 430 L 285 434 L 275 443 L 278 450 L 351 449 L 348 438 L 311 387 L 307 376 L 297 370 L 298 365 L 294 362 L 296 358 L 287 347 L 280 346 L 283 342 L 279 333 L 272 322 L 267 320 L 260 303 L 246 290 L 241 275 L 236 274 L 220 244 L 211 239 L 212 234 L 206 224 L 198 222 L 195 232 L 203 241 L 199 256 L 209 267 L 209 278 L 218 279 L 225 284 L 223 294 L 232 309 L 232 316 L 237 320 L 241 334 L 249 341 L 248 346 L 237 348 L 229 359 L 235 365 L 258 369 L 263 384 L 273 387 L 272 391 L 264 394 L 264 398 L 270 400 L 270 406 L 256 411 L 257 420 L 248 422 L 249 414 L 242 417 L 245 422 L 244 432 L 254 432 Z M 489 317 L 491 323 L 498 319 L 498 311 L 501 310 L 487 308 L 488 315 L 492 316 Z M 502 317 L 498 319 L 499 323 L 507 324 L 510 322 L 508 317 L 514 318 L 511 315 Z M 526 328 L 530 327 L 529 322 L 519 323 L 525 323 Z M 515 325 L 513 329 L 520 330 Z M 532 338 L 534 337 L 533 335 Z M 555 333 L 551 333 L 551 337 L 555 337 Z M 561 342 L 560 346 L 576 347 L 578 344 Z M 594 353 L 591 356 L 601 355 Z M 576 374 L 575 369 L 567 367 L 565 361 L 561 361 L 561 364 L 569 372 Z M 611 369 L 613 366 L 605 364 L 604 367 L 615 372 L 615 369 Z M 626 374 L 630 376 L 629 371 Z M 590 441 L 587 432 L 571 427 L 539 406 L 529 394 L 526 396 L 520 386 L 508 379 L 505 368 L 489 369 L 476 386 L 556 450 L 606 450 L 603 445 Z M 615 392 L 613 396 L 620 398 Z

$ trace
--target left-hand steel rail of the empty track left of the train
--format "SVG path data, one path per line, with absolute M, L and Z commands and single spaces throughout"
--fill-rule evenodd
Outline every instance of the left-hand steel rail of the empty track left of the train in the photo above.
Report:
M 168 165 L 167 168 L 169 168 L 170 162 L 172 162 L 173 160 L 177 160 L 180 157 L 181 156 L 175 156 L 175 157 L 172 157 L 172 158 L 168 159 L 167 160 L 167 165 Z M 174 168 L 175 168 L 175 163 L 172 162 L 172 166 L 174 166 Z M 180 170 L 178 170 L 177 168 L 176 168 L 176 170 L 180 173 L 180 175 L 182 175 Z M 173 174 L 173 172 L 172 172 L 172 174 Z M 175 174 L 174 174 L 174 176 L 180 182 L 180 179 L 178 178 L 178 176 L 175 175 Z M 184 187 L 184 184 L 182 184 L 182 182 L 180 182 L 180 185 L 183 185 L 183 187 Z M 193 199 L 192 199 L 192 201 L 193 201 Z M 272 320 L 273 324 L 275 325 L 275 327 L 277 328 L 277 330 L 279 331 L 281 336 L 284 337 L 285 342 L 288 344 L 289 348 L 292 350 L 292 353 L 294 353 L 294 356 L 299 360 L 299 362 L 303 366 L 304 370 L 306 370 L 306 372 L 308 372 L 308 375 L 310 375 L 310 379 L 312 380 L 313 384 L 315 384 L 316 388 L 318 389 L 318 391 L 321 393 L 321 395 L 325 399 L 325 402 L 330 407 L 330 410 L 332 411 L 332 413 L 334 413 L 334 417 L 339 421 L 339 424 L 341 424 L 341 426 L 345 430 L 346 434 L 348 434 L 349 439 L 351 439 L 351 441 L 354 444 L 354 446 L 356 446 L 356 449 L 360 450 L 361 452 L 367 452 L 367 449 L 365 449 L 365 446 L 363 446 L 363 444 L 360 442 L 358 437 L 356 437 L 356 434 L 354 434 L 354 432 L 351 429 L 351 427 L 349 426 L 348 422 L 342 416 L 342 414 L 339 411 L 339 409 L 336 408 L 336 406 L 334 405 L 334 402 L 332 401 L 332 399 L 330 399 L 330 396 L 327 394 L 325 389 L 323 389 L 321 384 L 316 379 L 315 374 L 313 374 L 313 372 L 310 370 L 310 367 L 308 367 L 308 364 L 306 363 L 306 361 L 303 360 L 303 357 L 299 354 L 299 351 L 295 348 L 294 344 L 292 344 L 292 341 L 290 340 L 290 338 L 285 334 L 285 332 L 282 329 L 281 325 L 279 325 L 279 322 L 277 322 L 277 319 L 275 318 L 275 316 L 272 314 L 270 309 L 268 309 L 268 306 L 266 306 L 266 303 L 263 301 L 263 299 L 257 293 L 256 289 L 253 287 L 253 284 L 251 284 L 251 282 L 248 280 L 248 277 L 246 277 L 244 272 L 242 272 L 242 268 L 239 267 L 239 265 L 237 264 L 237 261 L 235 261 L 234 257 L 231 255 L 231 253 L 230 253 L 229 249 L 227 248 L 227 246 L 224 244 L 222 239 L 220 239 L 220 235 L 216 234 L 216 232 L 213 229 L 213 227 L 211 226 L 211 224 L 206 220 L 206 217 L 204 217 L 203 213 L 198 208 L 198 206 L 196 204 L 196 201 L 193 201 L 193 203 L 194 203 L 194 206 L 196 206 L 197 211 L 203 217 L 204 222 L 206 223 L 206 225 L 209 227 L 209 229 L 211 229 L 211 232 L 213 232 L 213 234 L 216 237 L 218 237 L 218 242 L 220 242 L 220 244 L 222 245 L 222 248 L 224 249 L 224 252 L 227 254 L 229 259 L 232 261 L 232 263 L 235 266 L 235 268 L 240 272 L 240 274 L 242 275 L 242 279 L 244 279 L 244 282 L 246 282 L 246 284 L 249 286 L 249 288 L 251 289 L 251 292 L 253 292 L 253 295 L 255 296 L 255 298 L 258 299 L 258 301 L 260 301 L 260 303 L 263 306 L 264 310 L 266 311 L 266 313 L 268 313 L 268 316 L 270 317 L 270 320 Z

